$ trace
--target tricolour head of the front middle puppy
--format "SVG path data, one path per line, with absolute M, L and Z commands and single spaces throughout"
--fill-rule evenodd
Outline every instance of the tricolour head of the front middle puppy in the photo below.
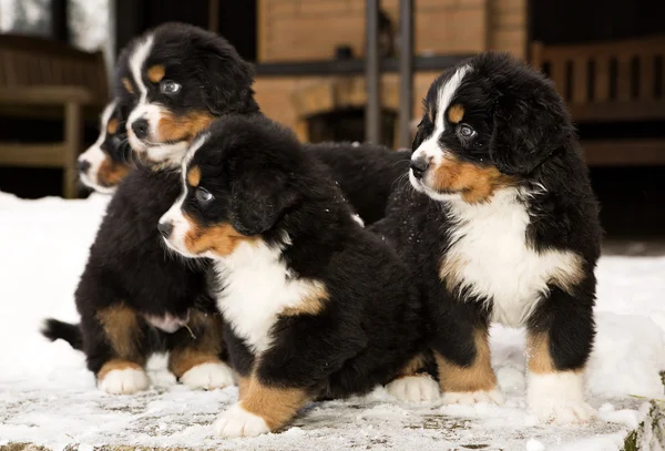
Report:
M 183 161 L 183 194 L 160 219 L 166 244 L 223 258 L 237 246 L 284 240 L 279 224 L 301 198 L 306 158 L 293 133 L 256 116 L 216 121 Z

